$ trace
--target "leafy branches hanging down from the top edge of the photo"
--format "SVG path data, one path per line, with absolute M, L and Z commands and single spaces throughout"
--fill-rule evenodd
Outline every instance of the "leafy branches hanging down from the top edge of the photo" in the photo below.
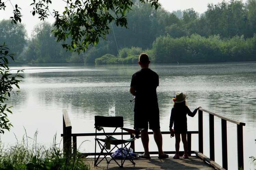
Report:
M 57 42 L 64 42 L 63 48 L 70 51 L 84 51 L 88 45 L 95 46 L 99 38 L 106 39 L 109 34 L 109 24 L 114 21 L 116 26 L 127 28 L 126 12 L 129 13 L 133 0 L 67 0 L 65 11 L 54 11 L 54 36 Z M 158 0 L 139 0 L 141 3 L 150 2 L 151 6 L 158 8 Z M 51 0 L 33 0 L 32 15 L 36 13 L 41 20 L 47 18 Z M 5 3 L 0 1 L 0 9 L 5 10 Z M 21 22 L 21 13 L 18 5 L 15 5 L 12 21 Z M 111 14 L 111 11 L 114 15 Z M 83 28 L 82 28 L 83 27 Z M 68 37 L 71 43 L 65 44 Z

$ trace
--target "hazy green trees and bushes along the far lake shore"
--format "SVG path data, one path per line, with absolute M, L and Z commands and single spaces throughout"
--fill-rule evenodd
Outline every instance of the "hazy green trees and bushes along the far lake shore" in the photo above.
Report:
M 131 64 L 138 51 L 148 53 L 153 63 L 195 63 L 195 58 L 200 62 L 256 61 L 256 0 L 208 4 L 203 14 L 193 8 L 172 13 L 163 7 L 154 10 L 151 4 L 135 0 L 126 15 L 128 29 L 110 23 L 107 40 L 100 39 L 80 55 L 66 52 L 61 44 L 69 44 L 70 38 L 57 43 L 51 32 L 54 25 L 45 21 L 28 38 L 23 24 L 2 20 L 0 42 L 11 41 L 6 44 L 18 54 L 16 60 L 31 63 L 119 64 L 123 58 Z

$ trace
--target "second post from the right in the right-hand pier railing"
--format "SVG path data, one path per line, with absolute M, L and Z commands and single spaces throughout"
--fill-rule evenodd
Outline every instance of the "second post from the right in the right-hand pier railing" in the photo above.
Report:
M 227 121 L 221 119 L 222 167 L 228 170 Z

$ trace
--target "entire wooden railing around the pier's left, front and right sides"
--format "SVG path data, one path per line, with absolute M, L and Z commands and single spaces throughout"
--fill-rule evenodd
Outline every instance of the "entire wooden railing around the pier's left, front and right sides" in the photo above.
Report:
M 245 123 L 236 121 L 234 119 L 230 119 L 226 116 L 217 114 L 215 112 L 208 111 L 203 108 L 199 108 L 198 110 L 198 131 L 188 131 L 187 132 L 187 142 L 188 142 L 188 155 L 195 154 L 197 152 L 191 151 L 191 134 L 198 134 L 198 149 L 199 152 L 203 154 L 203 112 L 209 113 L 209 136 L 210 136 L 210 159 L 215 160 L 214 155 L 214 116 L 221 118 L 222 124 L 222 167 L 228 170 L 228 156 L 227 156 L 227 121 L 231 123 L 237 124 L 237 148 L 238 148 L 238 166 L 244 168 L 244 161 L 243 161 L 243 126 Z M 63 149 L 65 152 L 69 151 L 71 145 L 73 143 L 73 152 L 77 149 L 76 145 L 76 137 L 77 136 L 95 136 L 95 133 L 72 133 L 71 123 L 68 116 L 68 112 L 66 109 L 62 109 L 63 113 Z M 170 135 L 170 131 L 161 132 L 162 134 Z M 152 135 L 153 132 L 148 132 L 149 135 Z M 112 135 L 112 133 L 97 133 L 97 136 L 105 136 L 105 135 Z M 115 135 L 121 135 L 121 133 L 115 133 Z M 123 135 L 130 135 L 130 137 L 134 137 L 131 133 L 123 133 Z M 144 152 L 136 152 L 135 151 L 135 142 L 131 143 L 131 148 L 133 149 L 134 153 L 144 153 Z M 165 151 L 167 154 L 175 154 L 175 151 Z M 103 155 L 104 153 L 86 153 L 85 156 L 88 155 Z M 158 152 L 150 152 L 150 154 L 158 154 Z M 179 153 L 183 155 L 183 152 Z M 239 169 L 239 168 L 238 168 Z

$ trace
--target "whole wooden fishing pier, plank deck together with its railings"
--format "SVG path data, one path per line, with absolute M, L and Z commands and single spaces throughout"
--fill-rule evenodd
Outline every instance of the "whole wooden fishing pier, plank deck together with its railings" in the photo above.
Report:
M 210 143 L 208 143 L 210 147 L 210 158 L 203 155 L 203 145 L 207 143 L 203 143 L 203 112 L 209 114 L 209 138 Z M 72 126 L 68 116 L 68 112 L 66 109 L 62 109 L 63 113 L 63 150 L 65 152 L 70 152 L 70 148 L 73 149 L 73 152 L 77 149 L 76 138 L 78 136 L 95 136 L 95 133 L 72 133 Z M 222 166 L 218 165 L 214 162 L 214 116 L 221 118 L 221 133 L 222 133 Z M 199 108 L 198 110 L 198 131 L 188 131 L 187 133 L 187 141 L 188 141 L 188 155 L 189 159 L 173 159 L 172 156 L 166 159 L 158 159 L 157 157 L 152 157 L 151 159 L 142 159 L 137 158 L 134 160 L 136 163 L 132 165 L 129 161 L 125 162 L 124 167 L 120 168 L 117 164 L 106 162 L 100 163 L 97 167 L 92 167 L 93 169 L 131 169 L 131 170 L 143 170 L 143 169 L 154 169 L 154 170 L 171 170 L 171 169 L 189 169 L 189 170 L 228 170 L 228 153 L 227 153 L 227 121 L 230 123 L 237 124 L 237 148 L 238 148 L 238 170 L 239 167 L 244 168 L 244 160 L 243 160 L 243 126 L 245 123 L 239 122 L 234 119 L 230 119 L 221 114 L 217 114 L 215 112 L 208 111 L 203 108 Z M 153 132 L 148 132 L 149 135 L 153 134 Z M 170 135 L 170 132 L 162 132 L 162 134 Z M 199 151 L 195 151 L 191 149 L 191 134 L 198 134 L 198 149 Z M 112 133 L 106 135 L 112 135 Z M 121 135 L 121 133 L 115 133 L 115 135 Z M 123 133 L 123 135 L 130 135 L 130 137 L 134 137 L 134 134 L 131 133 Z M 105 136 L 103 133 L 97 133 L 97 136 Z M 131 143 L 131 148 L 134 153 L 135 151 L 135 142 Z M 164 151 L 167 154 L 175 154 L 175 151 Z M 158 152 L 150 152 L 150 154 L 158 154 Z M 191 156 L 191 154 L 196 154 L 196 156 Z M 94 156 L 94 155 L 104 155 L 104 153 L 84 153 L 84 156 Z M 183 155 L 183 152 L 180 151 L 180 155 Z M 94 158 L 87 158 L 89 164 L 94 163 Z M 91 164 L 93 165 L 93 164 Z

